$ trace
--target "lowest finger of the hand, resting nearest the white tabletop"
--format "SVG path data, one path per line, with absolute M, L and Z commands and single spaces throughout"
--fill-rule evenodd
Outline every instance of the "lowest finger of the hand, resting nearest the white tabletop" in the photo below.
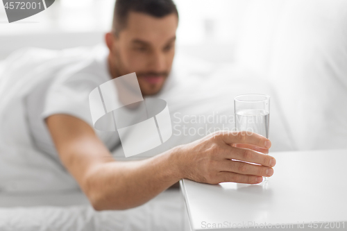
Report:
M 230 173 L 228 171 L 221 171 L 217 174 L 218 182 L 236 182 L 244 184 L 258 184 L 262 182 L 261 176 L 242 175 L 239 173 Z

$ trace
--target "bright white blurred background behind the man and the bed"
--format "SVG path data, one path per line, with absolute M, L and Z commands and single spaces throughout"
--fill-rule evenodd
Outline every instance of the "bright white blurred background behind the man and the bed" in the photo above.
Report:
M 278 100 L 291 137 L 280 141 L 296 150 L 346 148 L 346 0 L 174 2 L 180 16 L 179 70 L 192 69 L 185 73 L 201 79 L 254 74 L 276 91 L 271 100 Z M 114 4 L 56 0 L 43 12 L 11 24 L 0 4 L 0 62 L 25 46 L 64 49 L 103 43 Z

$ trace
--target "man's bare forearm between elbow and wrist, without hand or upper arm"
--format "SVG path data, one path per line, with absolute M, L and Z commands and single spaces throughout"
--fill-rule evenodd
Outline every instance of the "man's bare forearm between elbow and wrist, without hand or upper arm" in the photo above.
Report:
M 90 172 L 87 196 L 97 210 L 128 209 L 151 200 L 183 178 L 180 147 L 146 160 L 107 162 Z

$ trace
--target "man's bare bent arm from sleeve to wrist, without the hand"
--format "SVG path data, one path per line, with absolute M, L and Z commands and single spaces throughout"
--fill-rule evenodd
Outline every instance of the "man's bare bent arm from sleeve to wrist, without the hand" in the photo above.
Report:
M 180 180 L 171 164 L 172 151 L 148 160 L 116 162 L 81 119 L 54 114 L 46 124 L 62 164 L 96 210 L 142 205 Z

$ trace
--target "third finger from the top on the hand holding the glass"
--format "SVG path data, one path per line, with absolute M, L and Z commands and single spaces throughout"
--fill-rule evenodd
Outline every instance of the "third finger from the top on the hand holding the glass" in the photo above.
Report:
M 273 169 L 271 167 L 248 164 L 241 161 L 225 160 L 221 163 L 220 171 L 230 171 L 242 175 L 253 176 L 272 176 Z

